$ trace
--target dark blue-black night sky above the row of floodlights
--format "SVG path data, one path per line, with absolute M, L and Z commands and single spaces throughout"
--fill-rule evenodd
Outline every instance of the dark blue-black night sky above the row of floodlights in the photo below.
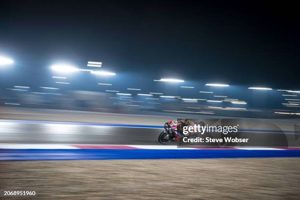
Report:
M 299 89 L 299 19 L 296 4 L 274 1 L 7 0 L 0 54 L 20 69 L 5 77 L 25 82 L 45 81 L 55 61 L 90 60 L 150 80 Z

